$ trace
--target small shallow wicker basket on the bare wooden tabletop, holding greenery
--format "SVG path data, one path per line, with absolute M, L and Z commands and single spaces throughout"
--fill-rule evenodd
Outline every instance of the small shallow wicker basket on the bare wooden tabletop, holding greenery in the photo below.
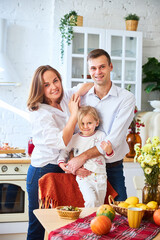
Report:
M 82 212 L 82 209 L 80 208 L 77 211 L 67 211 L 67 210 L 62 210 L 63 207 L 64 206 L 59 206 L 56 208 L 60 218 L 77 219 L 79 218 L 79 215 Z

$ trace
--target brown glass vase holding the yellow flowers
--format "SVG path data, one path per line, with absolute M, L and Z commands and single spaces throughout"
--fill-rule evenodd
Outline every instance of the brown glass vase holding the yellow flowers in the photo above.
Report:
M 145 183 L 142 191 L 142 201 L 147 204 L 150 201 L 156 201 L 160 205 L 160 186 Z

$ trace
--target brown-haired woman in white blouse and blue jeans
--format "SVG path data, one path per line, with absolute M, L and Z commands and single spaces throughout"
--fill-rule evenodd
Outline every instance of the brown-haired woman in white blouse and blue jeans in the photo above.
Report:
M 33 210 L 39 207 L 38 180 L 49 172 L 63 172 L 57 165 L 59 152 L 67 146 L 74 133 L 79 96 L 84 95 L 91 86 L 93 84 L 82 84 L 81 87 L 63 91 L 61 76 L 54 68 L 46 65 L 35 71 L 27 102 L 35 145 L 27 174 L 27 240 L 44 239 L 44 228 L 33 214 Z M 76 94 L 73 94 L 75 92 Z

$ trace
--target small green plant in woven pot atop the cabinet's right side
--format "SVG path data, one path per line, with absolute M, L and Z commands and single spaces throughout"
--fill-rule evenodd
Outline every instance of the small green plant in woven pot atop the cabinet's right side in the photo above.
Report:
M 136 31 L 138 26 L 139 17 L 136 14 L 128 14 L 125 18 L 126 30 Z

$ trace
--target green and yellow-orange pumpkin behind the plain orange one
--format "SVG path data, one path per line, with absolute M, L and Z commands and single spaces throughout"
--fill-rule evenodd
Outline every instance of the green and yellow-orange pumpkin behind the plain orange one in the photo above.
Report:
M 109 217 L 111 221 L 115 218 L 115 210 L 108 204 L 101 205 L 96 212 L 96 216 L 104 215 Z

